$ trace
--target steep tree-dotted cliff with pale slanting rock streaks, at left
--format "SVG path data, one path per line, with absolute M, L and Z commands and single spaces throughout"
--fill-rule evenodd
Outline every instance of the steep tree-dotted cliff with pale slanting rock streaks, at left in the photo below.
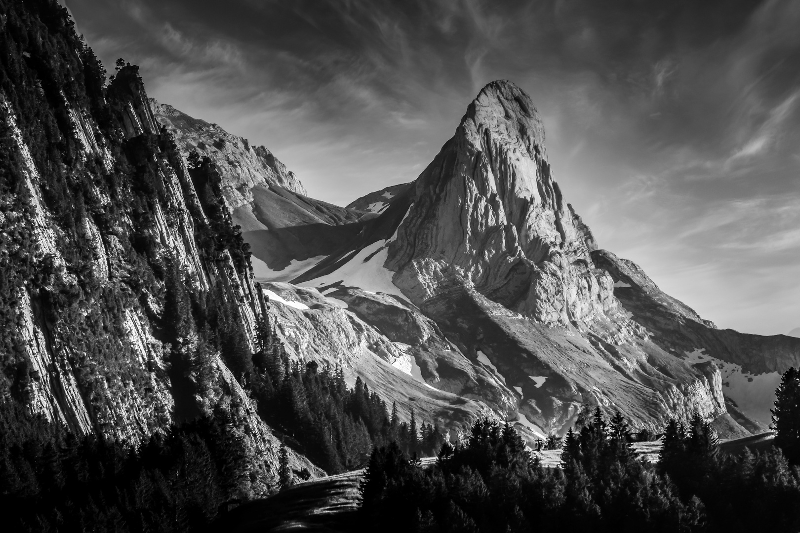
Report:
M 186 168 L 136 67 L 106 86 L 55 2 L 0 23 L 2 401 L 130 444 L 222 408 L 265 493 L 280 444 L 228 368 L 262 296 L 214 168 Z

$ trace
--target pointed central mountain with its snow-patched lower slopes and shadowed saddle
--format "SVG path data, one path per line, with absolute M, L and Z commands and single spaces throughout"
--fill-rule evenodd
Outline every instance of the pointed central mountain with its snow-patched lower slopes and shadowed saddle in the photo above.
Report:
M 492 82 L 412 184 L 347 208 L 255 187 L 234 220 L 263 226 L 244 237 L 287 347 L 456 433 L 489 414 L 532 440 L 583 404 L 762 431 L 800 343 L 718 330 L 598 249 L 544 137 L 530 97 Z

